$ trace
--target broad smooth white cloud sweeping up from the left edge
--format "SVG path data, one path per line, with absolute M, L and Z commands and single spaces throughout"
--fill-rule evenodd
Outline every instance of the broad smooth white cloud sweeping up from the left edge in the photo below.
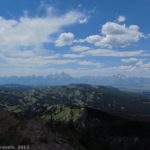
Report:
M 40 45 L 51 42 L 51 34 L 62 27 L 77 23 L 83 14 L 70 11 L 61 16 L 20 17 L 19 20 L 0 17 L 0 46 Z

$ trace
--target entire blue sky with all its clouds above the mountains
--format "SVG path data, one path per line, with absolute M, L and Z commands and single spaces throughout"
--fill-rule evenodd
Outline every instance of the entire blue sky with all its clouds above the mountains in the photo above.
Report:
M 0 76 L 150 75 L 150 1 L 1 0 Z

